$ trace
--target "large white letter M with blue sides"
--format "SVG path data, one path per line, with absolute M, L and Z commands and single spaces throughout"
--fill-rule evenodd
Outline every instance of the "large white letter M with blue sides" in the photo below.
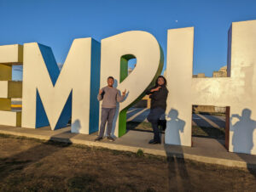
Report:
M 100 43 L 75 39 L 61 73 L 49 47 L 24 45 L 22 127 L 54 130 L 67 126 L 73 133 L 98 130 Z

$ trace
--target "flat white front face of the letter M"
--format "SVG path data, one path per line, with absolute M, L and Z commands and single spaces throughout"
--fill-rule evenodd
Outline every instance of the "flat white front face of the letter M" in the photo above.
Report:
M 24 45 L 22 127 L 36 127 L 37 88 L 52 130 L 55 129 L 67 98 L 73 91 L 72 132 L 89 133 L 90 76 L 99 78 L 96 74 L 90 74 L 91 42 L 91 38 L 73 41 L 55 86 L 51 82 L 38 43 Z M 48 57 L 49 54 L 51 51 L 45 56 Z M 55 69 L 57 67 L 56 63 L 50 65 L 55 65 Z

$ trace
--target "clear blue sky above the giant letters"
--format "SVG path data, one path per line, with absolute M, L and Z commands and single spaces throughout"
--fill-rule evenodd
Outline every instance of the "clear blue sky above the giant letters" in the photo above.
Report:
M 74 38 L 148 31 L 166 68 L 167 30 L 195 26 L 193 73 L 212 76 L 226 65 L 231 22 L 241 20 L 256 20 L 256 0 L 0 0 L 0 45 L 40 42 L 63 63 Z M 19 69 L 14 73 L 19 79 Z

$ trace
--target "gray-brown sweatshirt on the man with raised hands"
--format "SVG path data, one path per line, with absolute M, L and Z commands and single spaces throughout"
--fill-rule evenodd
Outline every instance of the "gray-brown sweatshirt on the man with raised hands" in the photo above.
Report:
M 117 102 L 123 101 L 125 96 L 120 96 L 118 89 L 106 86 L 102 88 L 102 94 L 98 94 L 97 99 L 102 100 L 102 108 L 116 108 Z

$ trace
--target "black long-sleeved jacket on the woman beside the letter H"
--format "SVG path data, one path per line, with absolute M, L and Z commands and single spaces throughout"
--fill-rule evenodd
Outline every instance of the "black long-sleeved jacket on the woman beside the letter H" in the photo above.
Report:
M 162 87 L 158 91 L 154 91 L 154 92 L 150 92 L 151 89 L 153 89 L 153 88 L 150 88 L 146 91 L 146 94 L 151 94 L 151 95 L 149 95 L 149 98 L 151 99 L 150 109 L 160 107 L 160 108 L 166 110 L 166 99 L 168 96 L 167 88 Z

